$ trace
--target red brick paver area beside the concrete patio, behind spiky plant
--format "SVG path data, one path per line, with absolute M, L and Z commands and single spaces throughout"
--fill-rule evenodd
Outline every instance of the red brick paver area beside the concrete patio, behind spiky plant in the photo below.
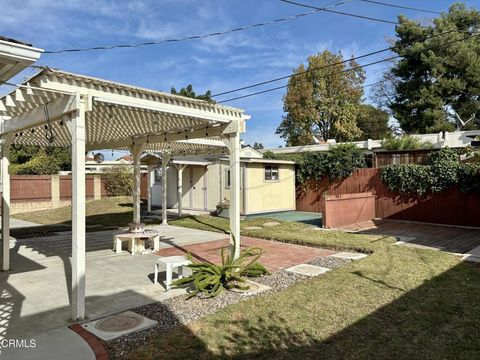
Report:
M 198 260 L 220 263 L 221 248 L 228 246 L 228 244 L 228 239 L 225 239 L 208 243 L 186 245 L 183 247 L 176 246 L 173 248 L 160 249 L 158 255 L 183 255 L 190 252 Z M 257 246 L 265 251 L 260 262 L 270 271 L 278 271 L 290 266 L 308 263 L 314 259 L 330 256 L 336 253 L 336 251 L 332 250 L 242 237 L 241 247 L 245 249 L 250 246 Z

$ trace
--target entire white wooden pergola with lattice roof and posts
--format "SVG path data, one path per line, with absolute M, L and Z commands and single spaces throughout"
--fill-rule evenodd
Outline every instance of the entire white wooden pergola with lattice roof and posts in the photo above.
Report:
M 10 269 L 11 144 L 71 147 L 72 318 L 85 317 L 85 154 L 125 149 L 134 158 L 133 222 L 140 222 L 140 159 L 144 152 L 171 156 L 228 152 L 231 170 L 231 238 L 240 239 L 240 109 L 46 68 L 0 99 L 2 249 Z M 166 176 L 166 171 L 163 171 Z M 164 178 L 166 184 L 166 178 Z M 166 187 L 163 194 L 166 224 Z M 236 242 L 235 254 L 240 252 Z

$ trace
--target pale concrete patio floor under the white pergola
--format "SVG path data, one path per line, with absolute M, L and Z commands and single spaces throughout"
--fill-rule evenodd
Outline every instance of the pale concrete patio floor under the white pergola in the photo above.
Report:
M 225 238 L 225 234 L 173 226 L 156 229 L 161 248 L 183 247 Z M 112 231 L 87 233 L 86 316 L 111 315 L 177 296 L 153 285 L 154 254 L 115 254 Z M 31 336 L 69 323 L 71 233 L 12 240 L 11 271 L 0 273 L 0 338 Z M 162 269 L 160 269 L 162 271 Z M 160 273 L 160 280 L 165 274 Z

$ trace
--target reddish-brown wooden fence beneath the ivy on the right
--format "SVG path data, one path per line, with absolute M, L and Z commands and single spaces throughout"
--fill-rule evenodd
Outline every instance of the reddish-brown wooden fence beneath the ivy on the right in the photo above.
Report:
M 359 169 L 352 176 L 343 180 L 329 182 L 328 179 L 311 183 L 308 191 L 297 190 L 297 210 L 322 212 L 331 227 L 343 223 L 338 216 L 328 214 L 325 208 L 325 196 L 371 193 L 375 197 L 375 217 L 420 221 L 437 224 L 480 226 L 480 194 L 464 194 L 456 188 L 429 194 L 425 197 L 400 195 L 388 190 L 380 179 L 379 169 Z M 331 200 L 333 201 L 333 200 Z M 353 211 L 352 206 L 345 206 L 345 200 L 338 200 L 344 211 Z M 330 204 L 330 206 L 334 206 Z M 336 210 L 335 210 L 336 211 Z M 331 212 L 331 210 L 330 210 Z M 340 211 L 341 213 L 341 211 Z M 355 218 L 354 215 L 352 215 Z M 359 218 L 361 218 L 360 216 Z M 332 225 L 333 224 L 333 225 Z

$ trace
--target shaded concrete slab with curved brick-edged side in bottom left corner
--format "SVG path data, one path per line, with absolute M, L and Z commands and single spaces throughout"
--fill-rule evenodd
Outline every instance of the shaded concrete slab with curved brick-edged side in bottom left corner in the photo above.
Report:
M 24 339 L 30 345 L 29 347 L 3 347 L 0 358 L 5 360 L 95 360 L 95 354 L 88 343 L 66 326 Z

